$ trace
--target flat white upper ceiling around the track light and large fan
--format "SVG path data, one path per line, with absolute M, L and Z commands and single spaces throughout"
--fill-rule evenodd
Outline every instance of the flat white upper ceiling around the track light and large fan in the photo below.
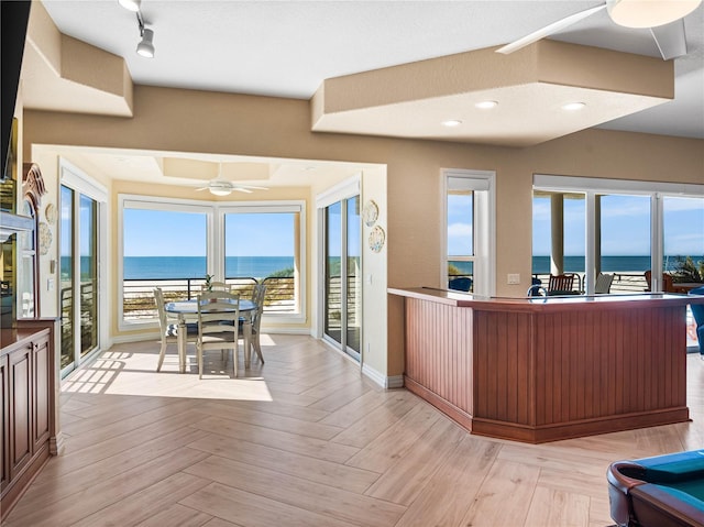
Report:
M 117 0 L 45 0 L 59 31 L 122 56 L 135 84 L 310 99 L 323 80 L 512 42 L 598 1 L 142 0 L 155 57 Z M 601 128 L 704 139 L 704 4 L 684 19 L 671 102 Z M 659 57 L 605 10 L 557 40 Z

